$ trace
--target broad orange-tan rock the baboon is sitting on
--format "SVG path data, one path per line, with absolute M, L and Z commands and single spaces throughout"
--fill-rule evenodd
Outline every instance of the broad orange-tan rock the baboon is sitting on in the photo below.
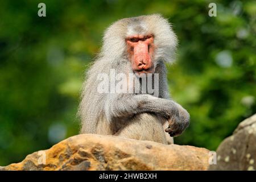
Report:
M 1 170 L 206 170 L 208 154 L 193 146 L 82 134 Z

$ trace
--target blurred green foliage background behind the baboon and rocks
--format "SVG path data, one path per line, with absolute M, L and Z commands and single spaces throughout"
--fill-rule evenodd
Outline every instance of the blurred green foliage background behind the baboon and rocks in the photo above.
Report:
M 208 16 L 210 2 L 217 17 Z M 191 125 L 176 143 L 216 150 L 256 113 L 256 1 L 1 1 L 0 166 L 78 134 L 84 71 L 105 28 L 153 13 L 179 38 L 168 80 Z

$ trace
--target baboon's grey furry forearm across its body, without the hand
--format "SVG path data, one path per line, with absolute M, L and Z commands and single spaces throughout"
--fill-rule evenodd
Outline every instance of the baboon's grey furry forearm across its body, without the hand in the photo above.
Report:
M 172 100 L 157 98 L 148 94 L 109 98 L 105 102 L 105 114 L 108 119 L 132 117 L 134 114 L 151 112 L 166 117 L 179 117 L 187 113 L 183 107 Z M 187 113 L 188 114 L 188 113 Z

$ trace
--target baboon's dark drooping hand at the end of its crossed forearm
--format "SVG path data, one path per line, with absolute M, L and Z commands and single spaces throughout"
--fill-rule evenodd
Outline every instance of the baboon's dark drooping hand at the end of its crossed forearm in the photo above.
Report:
M 189 125 L 189 113 L 180 105 L 172 112 L 168 119 L 169 126 L 165 130 L 171 137 L 180 135 Z

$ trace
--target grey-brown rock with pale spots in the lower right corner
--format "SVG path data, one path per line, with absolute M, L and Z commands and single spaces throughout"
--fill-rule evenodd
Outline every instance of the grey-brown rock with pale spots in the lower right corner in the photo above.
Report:
M 217 148 L 217 164 L 210 170 L 256 169 L 256 114 L 238 125 Z

